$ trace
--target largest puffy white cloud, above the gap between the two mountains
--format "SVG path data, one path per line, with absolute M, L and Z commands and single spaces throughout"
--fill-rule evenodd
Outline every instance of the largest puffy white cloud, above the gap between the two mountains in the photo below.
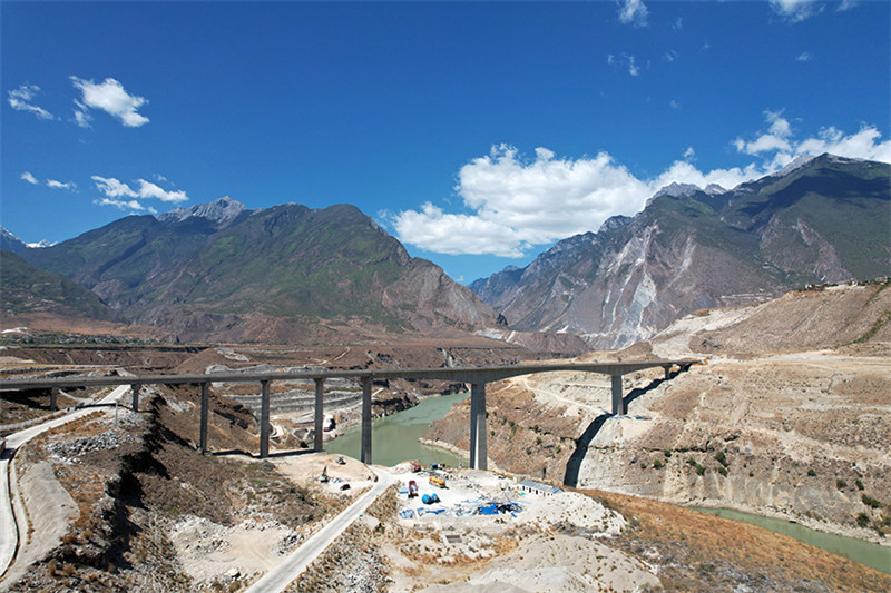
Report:
M 516 148 L 492 147 L 464 165 L 456 190 L 472 214 L 447 214 L 432 204 L 390 217 L 400 240 L 448 254 L 519 257 L 544 245 L 596 229 L 615 214 L 637 213 L 650 196 L 613 157 L 556 159 L 546 148 L 529 160 Z

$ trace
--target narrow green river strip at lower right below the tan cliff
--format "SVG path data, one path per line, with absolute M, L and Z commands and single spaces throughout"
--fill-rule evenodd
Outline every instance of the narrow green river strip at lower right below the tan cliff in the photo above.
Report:
M 844 537 L 842 535 L 835 535 L 834 533 L 824 533 L 782 518 L 763 517 L 761 515 L 752 515 L 731 508 L 704 508 L 698 506 L 694 508 L 703 513 L 742 521 L 750 525 L 756 525 L 772 532 L 790 535 L 805 544 L 822 547 L 833 554 L 839 554 L 855 562 L 860 562 L 861 564 L 865 564 L 866 566 L 872 566 L 883 573 L 891 574 L 890 547 L 856 540 L 855 537 Z

